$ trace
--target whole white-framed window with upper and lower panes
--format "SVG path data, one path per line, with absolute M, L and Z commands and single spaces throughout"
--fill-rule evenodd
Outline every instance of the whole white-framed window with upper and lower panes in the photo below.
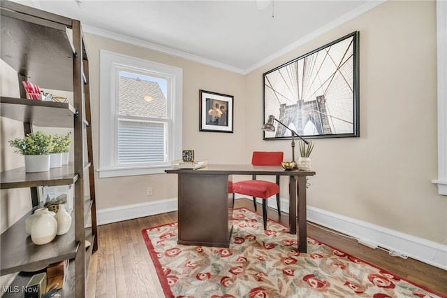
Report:
M 182 69 L 101 50 L 99 177 L 164 173 L 182 150 Z

